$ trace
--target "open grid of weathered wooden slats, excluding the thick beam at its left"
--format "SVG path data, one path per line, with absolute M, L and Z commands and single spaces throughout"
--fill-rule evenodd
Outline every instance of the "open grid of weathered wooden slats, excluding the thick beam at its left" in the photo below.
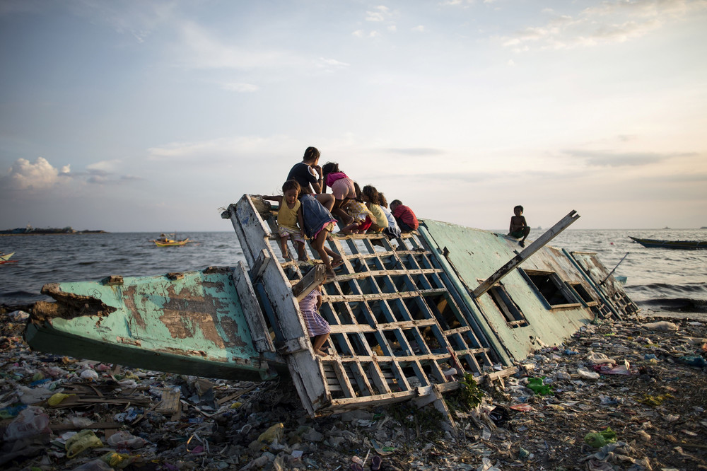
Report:
M 279 255 L 276 211 L 256 206 L 270 229 L 271 252 Z M 493 351 L 479 342 L 423 238 L 412 233 L 391 242 L 380 235 L 327 240 L 344 259 L 323 288 L 320 308 L 332 327 L 329 355 L 320 358 L 327 409 L 405 400 L 434 385 L 453 390 L 460 376 L 445 371 L 479 376 L 493 364 Z M 293 260 L 279 261 L 295 284 L 320 261 L 309 244 L 309 263 L 296 262 L 296 250 L 288 250 Z

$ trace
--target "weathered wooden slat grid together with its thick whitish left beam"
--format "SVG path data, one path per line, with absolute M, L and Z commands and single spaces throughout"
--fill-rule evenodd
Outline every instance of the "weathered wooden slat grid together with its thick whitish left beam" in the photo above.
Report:
M 264 302 L 277 323 L 272 329 L 276 346 L 281 344 L 279 352 L 310 414 L 416 397 L 443 408 L 440 394 L 459 387 L 458 369 L 483 376 L 498 363 L 488 342 L 477 338 L 469 313 L 451 296 L 443 269 L 417 234 L 395 240 L 395 247 L 380 235 L 327 241 L 344 263 L 322 289 L 320 314 L 332 334 L 329 355 L 316 356 L 292 286 L 310 286 L 302 280 L 312 261 L 320 263 L 317 252 L 308 247 L 309 263 L 279 262 L 270 205 L 246 195 L 229 211 L 253 284 L 267 286 Z

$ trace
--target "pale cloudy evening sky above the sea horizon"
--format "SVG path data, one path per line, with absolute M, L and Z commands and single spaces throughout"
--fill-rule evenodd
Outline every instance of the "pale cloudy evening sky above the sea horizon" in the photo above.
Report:
M 706 0 L 0 1 L 0 228 L 230 231 L 308 146 L 422 219 L 707 226 Z

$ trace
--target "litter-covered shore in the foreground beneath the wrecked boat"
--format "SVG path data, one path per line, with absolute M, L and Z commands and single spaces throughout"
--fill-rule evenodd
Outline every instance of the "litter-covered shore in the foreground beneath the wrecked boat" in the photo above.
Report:
M 312 419 L 286 380 L 42 354 L 22 310 L 1 317 L 6 470 L 707 469 L 706 322 L 586 325 L 515 376 L 445 395 L 452 427 L 409 402 Z

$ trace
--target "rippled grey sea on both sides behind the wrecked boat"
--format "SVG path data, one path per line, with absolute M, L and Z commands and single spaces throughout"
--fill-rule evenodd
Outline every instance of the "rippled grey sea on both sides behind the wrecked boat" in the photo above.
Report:
M 530 240 L 540 235 L 531 233 Z M 108 275 L 151 276 L 243 260 L 231 232 L 180 233 L 195 243 L 157 248 L 156 233 L 0 236 L 0 252 L 15 252 L 16 263 L 0 265 L 0 304 L 49 300 L 47 283 L 98 280 Z M 670 240 L 707 240 L 707 230 L 567 230 L 550 245 L 597 252 L 615 274 L 628 278 L 626 292 L 645 310 L 707 313 L 707 250 L 643 248 L 629 236 Z M 704 316 L 699 316 L 704 317 Z M 707 319 L 707 317 L 705 317 Z

